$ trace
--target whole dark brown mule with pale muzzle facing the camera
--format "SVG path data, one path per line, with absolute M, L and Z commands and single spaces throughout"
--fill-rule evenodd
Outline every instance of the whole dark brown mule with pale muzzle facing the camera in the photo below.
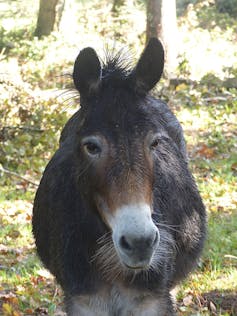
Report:
M 164 51 L 151 39 L 137 65 L 83 49 L 73 80 L 81 107 L 38 188 L 38 254 L 70 316 L 175 315 L 171 289 L 196 266 L 206 214 L 182 128 L 149 91 Z

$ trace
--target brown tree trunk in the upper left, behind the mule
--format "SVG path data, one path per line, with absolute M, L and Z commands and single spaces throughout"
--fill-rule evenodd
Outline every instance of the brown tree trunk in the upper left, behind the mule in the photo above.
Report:
M 59 0 L 40 0 L 35 36 L 47 36 L 54 30 L 58 2 Z

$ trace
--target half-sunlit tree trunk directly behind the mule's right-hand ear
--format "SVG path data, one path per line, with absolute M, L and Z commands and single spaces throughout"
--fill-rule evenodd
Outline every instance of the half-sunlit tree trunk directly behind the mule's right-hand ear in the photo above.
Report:
M 177 56 L 177 24 L 175 0 L 147 0 L 146 41 L 159 37 L 164 45 L 165 74 L 173 77 Z

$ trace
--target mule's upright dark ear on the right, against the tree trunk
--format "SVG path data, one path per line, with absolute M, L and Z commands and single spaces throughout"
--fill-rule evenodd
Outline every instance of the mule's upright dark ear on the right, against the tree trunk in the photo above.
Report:
M 142 93 L 150 91 L 160 80 L 163 69 L 163 46 L 157 38 L 151 38 L 132 73 L 136 90 Z

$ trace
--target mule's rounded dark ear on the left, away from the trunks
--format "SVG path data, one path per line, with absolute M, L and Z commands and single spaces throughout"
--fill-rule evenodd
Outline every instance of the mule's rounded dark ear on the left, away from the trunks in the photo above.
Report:
M 93 48 L 87 47 L 80 51 L 74 64 L 73 81 L 83 96 L 94 93 L 100 83 L 101 65 Z

